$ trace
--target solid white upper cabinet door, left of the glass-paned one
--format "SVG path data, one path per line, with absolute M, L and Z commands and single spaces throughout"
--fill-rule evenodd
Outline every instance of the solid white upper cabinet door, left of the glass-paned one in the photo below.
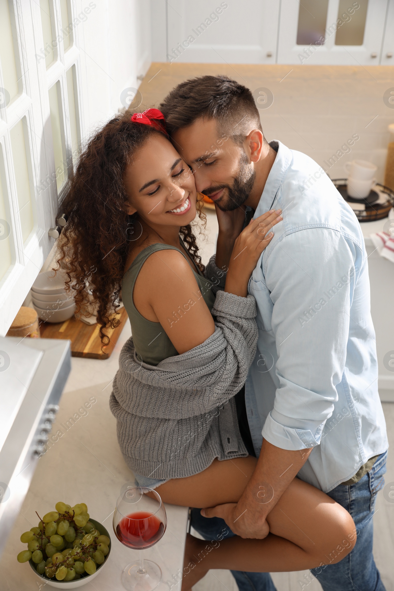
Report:
M 279 0 L 165 2 L 167 61 L 274 64 L 279 4 Z M 160 35 L 159 30 L 152 33 Z

